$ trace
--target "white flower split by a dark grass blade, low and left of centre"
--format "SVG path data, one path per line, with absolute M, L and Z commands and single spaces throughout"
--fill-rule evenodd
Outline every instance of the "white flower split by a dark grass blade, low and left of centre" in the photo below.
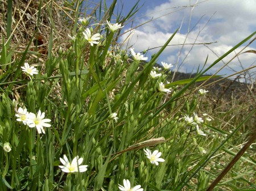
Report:
M 66 155 L 63 155 L 63 159 L 60 158 L 60 162 L 63 165 L 59 165 L 61 171 L 63 172 L 85 172 L 87 171 L 88 165 L 80 165 L 82 164 L 83 158 L 79 159 L 79 156 L 76 156 L 71 163 L 69 163 L 69 160 Z

